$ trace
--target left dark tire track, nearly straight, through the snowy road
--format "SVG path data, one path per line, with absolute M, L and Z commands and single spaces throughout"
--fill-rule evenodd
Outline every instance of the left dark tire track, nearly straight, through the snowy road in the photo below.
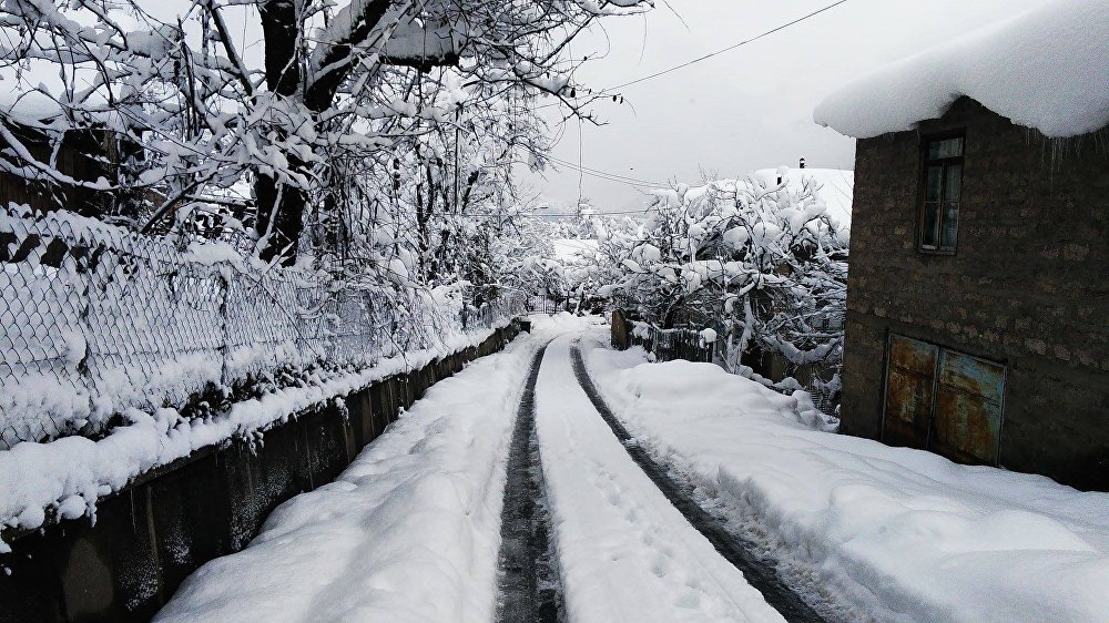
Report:
M 531 360 L 508 455 L 497 600 L 497 621 L 503 623 L 559 622 L 564 612 L 536 438 L 536 381 L 549 345 Z

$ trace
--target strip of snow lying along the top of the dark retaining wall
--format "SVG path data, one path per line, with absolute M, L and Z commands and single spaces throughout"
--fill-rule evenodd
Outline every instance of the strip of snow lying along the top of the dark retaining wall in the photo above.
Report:
M 45 521 L 47 509 L 57 510 L 67 519 L 85 513 L 95 517 L 100 497 L 119 491 L 151 469 L 206 446 L 263 431 L 314 405 L 477 346 L 492 331 L 457 334 L 435 348 L 383 359 L 357 372 L 317 375 L 305 387 L 278 389 L 261 399 L 237 402 L 226 413 L 213 418 L 182 418 L 175 409 L 153 412 L 129 409 L 126 416 L 133 423 L 119 427 L 100 440 L 74 436 L 45 443 L 18 443 L 0 452 L 0 527 L 35 529 Z M 9 549 L 0 540 L 0 552 Z

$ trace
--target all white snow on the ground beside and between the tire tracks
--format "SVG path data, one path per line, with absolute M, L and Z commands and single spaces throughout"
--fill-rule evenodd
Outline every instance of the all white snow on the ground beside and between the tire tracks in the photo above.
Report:
M 194 573 L 159 621 L 464 621 L 497 609 L 505 466 L 532 354 L 567 619 L 781 621 L 634 464 L 574 379 L 844 621 L 1105 621 L 1109 494 L 813 430 L 708 364 L 645 364 L 567 316 L 431 388 L 335 483 Z

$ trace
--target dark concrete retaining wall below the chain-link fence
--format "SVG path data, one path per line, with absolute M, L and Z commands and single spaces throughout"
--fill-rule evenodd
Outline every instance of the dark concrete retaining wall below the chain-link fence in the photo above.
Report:
M 0 555 L 0 622 L 150 620 L 201 564 L 245 548 L 278 504 L 333 481 L 400 408 L 518 333 L 513 323 L 354 392 L 347 417 L 328 401 L 266 431 L 254 451 L 211 447 L 146 473 L 101 500 L 94 525 L 65 521 L 17 539 Z

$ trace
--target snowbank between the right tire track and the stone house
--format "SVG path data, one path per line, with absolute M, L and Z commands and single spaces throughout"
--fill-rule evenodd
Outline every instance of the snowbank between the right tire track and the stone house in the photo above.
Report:
M 813 430 L 710 364 L 587 362 L 644 446 L 845 620 L 1105 621 L 1109 494 Z

